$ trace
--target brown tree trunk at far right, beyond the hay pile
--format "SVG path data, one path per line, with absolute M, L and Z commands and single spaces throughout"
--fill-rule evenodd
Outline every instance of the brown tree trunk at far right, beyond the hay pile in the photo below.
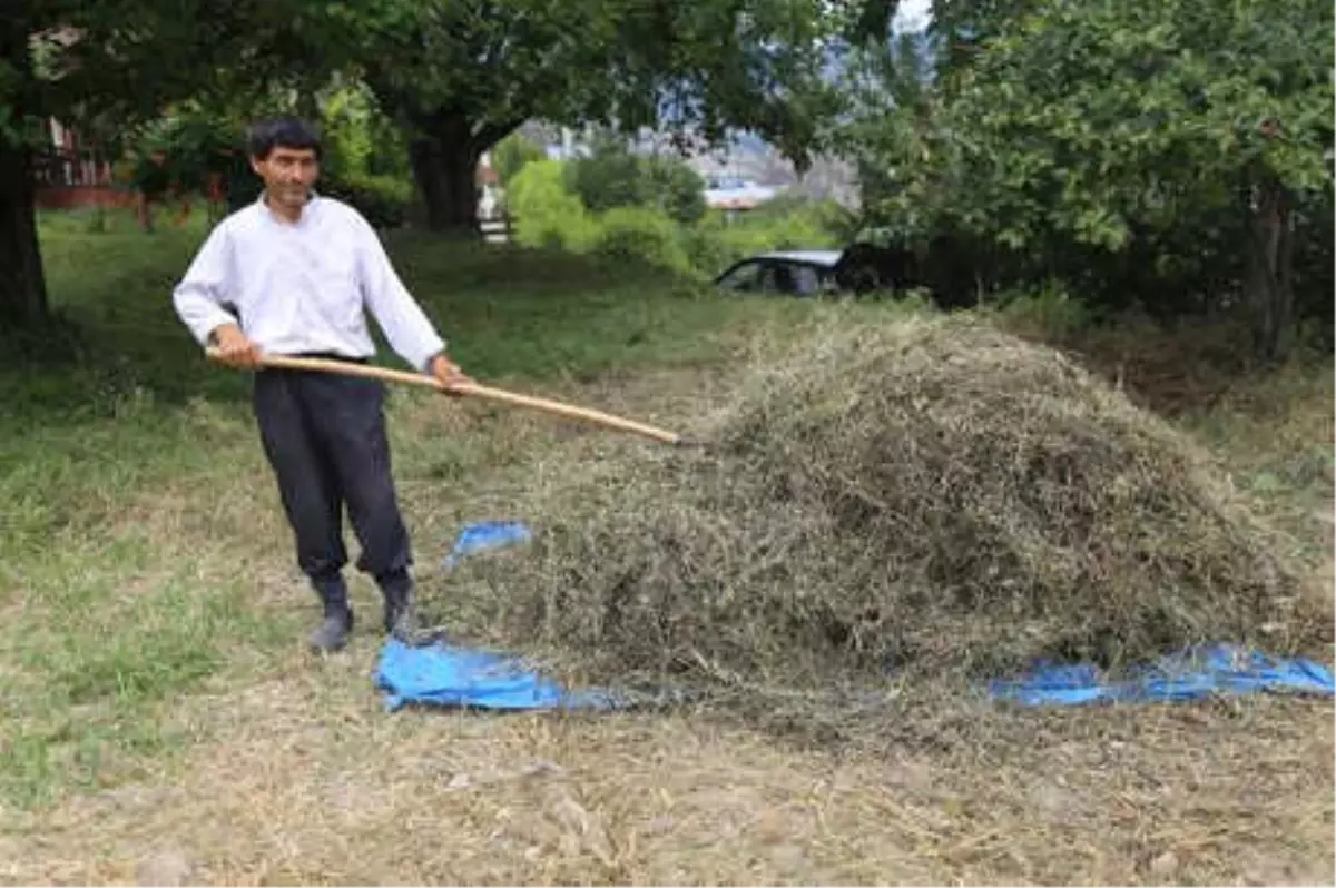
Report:
M 1253 190 L 1249 219 L 1248 304 L 1259 353 L 1284 361 L 1295 341 L 1295 212 L 1291 194 L 1271 178 Z

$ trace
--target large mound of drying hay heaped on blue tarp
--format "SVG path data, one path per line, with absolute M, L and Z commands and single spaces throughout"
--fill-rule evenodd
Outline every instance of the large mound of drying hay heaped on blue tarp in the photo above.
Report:
M 536 543 L 449 594 L 603 685 L 820 692 L 1300 640 L 1296 577 L 1194 451 L 987 326 L 822 331 L 705 434 L 576 470 L 525 515 Z

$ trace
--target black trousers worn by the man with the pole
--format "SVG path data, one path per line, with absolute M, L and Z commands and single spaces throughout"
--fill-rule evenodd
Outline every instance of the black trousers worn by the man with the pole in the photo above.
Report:
M 362 547 L 357 568 L 382 592 L 406 589 L 413 554 L 391 477 L 385 386 L 327 373 L 261 370 L 254 407 L 297 564 L 326 604 L 346 601 L 345 506 Z

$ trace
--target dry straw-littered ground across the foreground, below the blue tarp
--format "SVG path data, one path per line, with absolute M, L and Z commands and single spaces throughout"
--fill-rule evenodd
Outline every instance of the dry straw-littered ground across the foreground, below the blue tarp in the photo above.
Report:
M 1083 713 L 1033 746 L 840 761 L 688 718 L 383 714 L 369 645 L 194 701 L 186 766 L 0 843 L 5 875 L 438 881 L 1324 884 L 1331 706 Z M 207 722 L 207 725 L 204 724 Z M 1062 724 L 1059 724 L 1062 722 Z M 162 883 L 159 883 L 162 884 Z

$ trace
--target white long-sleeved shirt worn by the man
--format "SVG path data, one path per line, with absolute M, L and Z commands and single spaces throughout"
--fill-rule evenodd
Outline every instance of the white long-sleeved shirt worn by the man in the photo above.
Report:
M 172 303 L 202 346 L 219 324 L 236 323 L 269 354 L 370 358 L 375 343 L 366 327 L 369 308 L 413 367 L 426 371 L 445 351 L 370 223 L 346 203 L 318 195 L 297 224 L 275 216 L 263 196 L 222 220 Z

